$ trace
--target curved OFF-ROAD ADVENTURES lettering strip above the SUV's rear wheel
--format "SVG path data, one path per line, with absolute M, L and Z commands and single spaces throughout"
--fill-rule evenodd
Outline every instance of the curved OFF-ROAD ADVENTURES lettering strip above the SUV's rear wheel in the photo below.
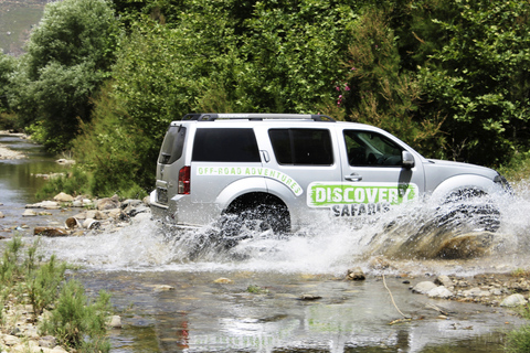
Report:
M 301 195 L 304 190 L 301 186 L 289 175 L 279 172 L 271 168 L 261 167 L 199 167 L 197 169 L 198 175 L 241 175 L 241 176 L 264 176 L 274 179 L 293 191 L 297 196 Z

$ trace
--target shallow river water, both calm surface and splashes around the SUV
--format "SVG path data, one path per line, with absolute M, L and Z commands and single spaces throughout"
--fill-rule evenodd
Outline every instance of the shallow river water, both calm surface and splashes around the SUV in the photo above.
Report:
M 10 179 L 47 163 L 33 156 L 0 161 L 4 214 L 31 199 L 34 176 Z M 498 200 L 496 234 L 441 232 L 434 208 L 411 205 L 362 226 L 322 217 L 288 238 L 253 234 L 231 249 L 206 242 L 213 225 L 168 232 L 138 216 L 98 236 L 44 238 L 41 250 L 82 266 L 71 276 L 88 293 L 112 293 L 123 321 L 110 332 L 113 352 L 502 352 L 505 333 L 522 323 L 512 311 L 428 299 L 410 286 L 434 275 L 526 268 L 527 190 L 521 183 L 515 199 Z M 448 239 L 469 250 L 441 257 Z M 391 267 L 377 266 L 381 256 Z M 344 280 L 357 266 L 367 280 Z M 398 309 L 413 320 L 390 324 L 402 318 Z

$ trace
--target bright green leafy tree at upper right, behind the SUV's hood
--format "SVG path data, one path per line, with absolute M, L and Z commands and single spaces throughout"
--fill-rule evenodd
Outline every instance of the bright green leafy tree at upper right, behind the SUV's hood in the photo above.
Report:
M 446 116 L 447 154 L 481 164 L 528 150 L 528 1 L 454 0 L 456 15 L 435 20 L 448 40 L 418 72 L 425 113 Z

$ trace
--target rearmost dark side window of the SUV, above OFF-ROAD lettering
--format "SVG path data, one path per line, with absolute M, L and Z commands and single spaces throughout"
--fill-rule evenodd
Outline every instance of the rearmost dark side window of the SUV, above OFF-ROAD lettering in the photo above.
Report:
M 192 160 L 261 162 L 253 129 L 197 129 Z

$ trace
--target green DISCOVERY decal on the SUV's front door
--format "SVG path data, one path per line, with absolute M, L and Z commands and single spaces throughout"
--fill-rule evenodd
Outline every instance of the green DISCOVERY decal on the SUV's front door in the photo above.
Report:
M 412 201 L 418 195 L 416 184 L 398 183 L 310 183 L 307 188 L 307 205 L 330 207 L 344 204 L 390 204 Z

